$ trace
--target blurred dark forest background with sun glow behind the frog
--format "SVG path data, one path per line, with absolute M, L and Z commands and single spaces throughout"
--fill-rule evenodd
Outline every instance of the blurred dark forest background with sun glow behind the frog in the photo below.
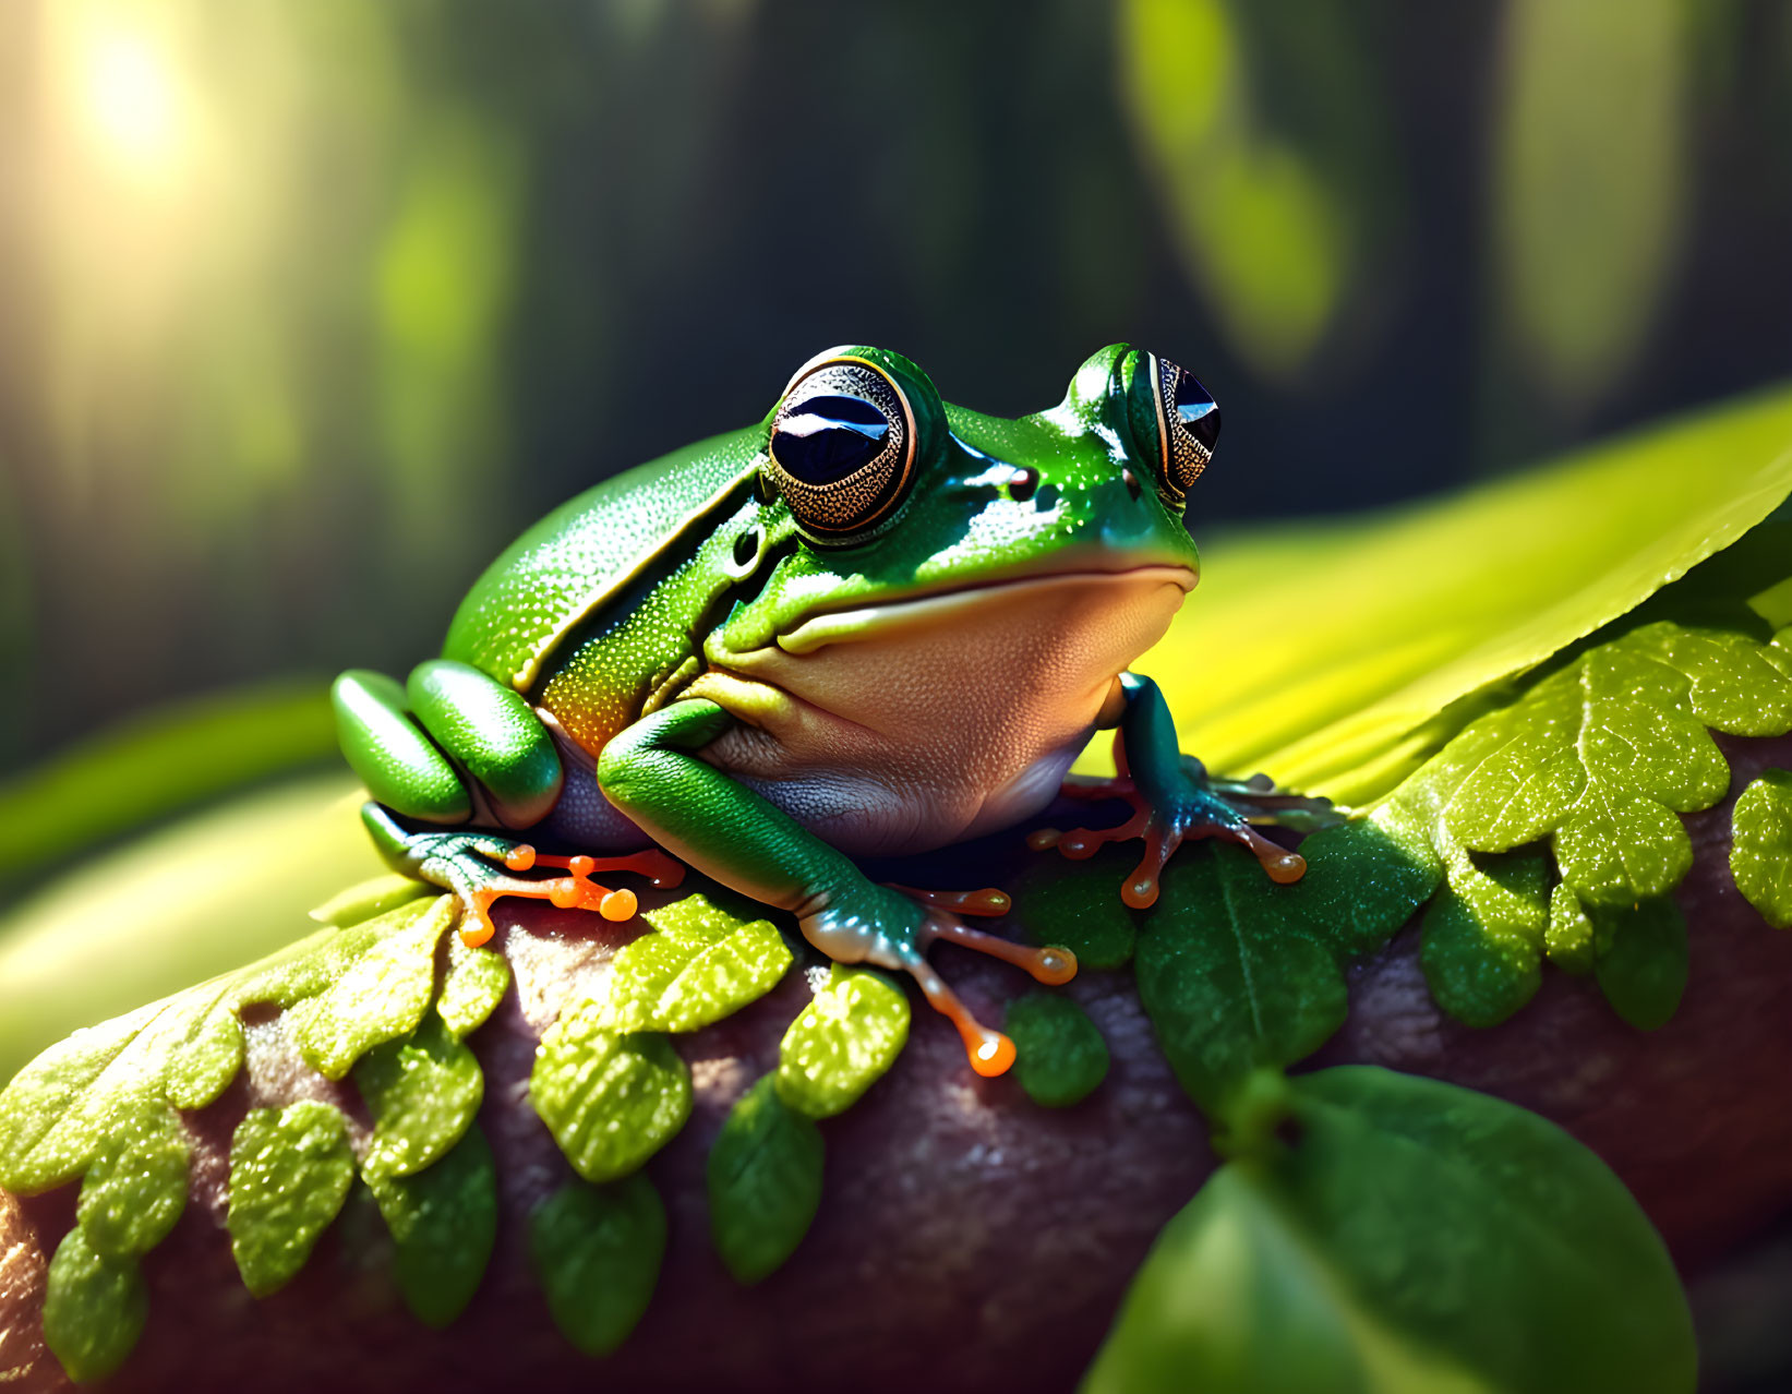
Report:
M 1202 539 L 1781 378 L 1788 156 L 1779 0 L 11 0 L 0 792 L 280 679 L 167 720 L 328 758 L 333 670 L 848 339 L 1004 414 L 1192 366 Z M 127 749 L 56 797 L 204 794 Z

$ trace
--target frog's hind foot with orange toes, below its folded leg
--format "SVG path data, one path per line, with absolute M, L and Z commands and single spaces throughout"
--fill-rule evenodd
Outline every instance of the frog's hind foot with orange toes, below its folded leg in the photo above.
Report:
M 410 831 L 391 810 L 371 801 L 362 805 L 360 819 L 394 871 L 455 894 L 461 901 L 461 941 L 468 948 L 491 939 L 491 907 L 504 896 L 545 899 L 563 910 L 591 910 L 620 921 L 634 916 L 634 892 L 599 885 L 591 880 L 593 873 L 631 871 L 647 876 L 654 887 L 674 887 L 685 880 L 683 864 L 658 848 L 627 856 L 548 856 L 527 842 L 480 831 Z M 566 874 L 529 880 L 505 874 L 538 867 L 557 867 Z

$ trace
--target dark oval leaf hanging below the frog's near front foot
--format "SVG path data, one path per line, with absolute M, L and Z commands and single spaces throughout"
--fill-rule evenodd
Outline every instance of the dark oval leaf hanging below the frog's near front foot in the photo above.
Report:
M 821 1129 L 771 1075 L 742 1095 L 710 1149 L 710 1236 L 742 1283 L 774 1274 L 821 1208 Z

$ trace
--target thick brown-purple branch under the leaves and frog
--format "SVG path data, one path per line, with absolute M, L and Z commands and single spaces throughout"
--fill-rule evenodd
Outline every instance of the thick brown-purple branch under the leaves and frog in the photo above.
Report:
M 1792 765 L 1792 738 L 1726 747 L 1733 790 L 1763 765 Z M 1767 928 L 1729 880 L 1729 801 L 1688 826 L 1697 862 L 1679 898 L 1692 982 L 1661 1030 L 1633 1030 L 1590 980 L 1555 971 L 1512 1021 L 1460 1027 L 1425 991 L 1409 926 L 1353 969 L 1351 1020 L 1310 1064 L 1371 1061 L 1532 1107 L 1616 1168 L 1683 1267 L 1724 1254 L 1792 1202 L 1792 935 Z M 504 1209 L 473 1308 L 446 1333 L 418 1326 L 385 1278 L 376 1213 L 353 1200 L 290 1288 L 247 1295 L 222 1231 L 235 1122 L 314 1095 L 366 1123 L 353 1089 L 308 1073 L 274 1016 L 253 1025 L 244 1077 L 188 1120 L 194 1202 L 145 1261 L 149 1329 L 109 1387 L 1072 1389 L 1154 1235 L 1215 1165 L 1129 973 L 1090 973 L 1070 989 L 1106 1034 L 1113 1071 L 1066 1113 L 1034 1107 L 1012 1079 L 973 1077 L 953 1030 L 919 1011 L 892 1073 L 824 1123 L 826 1195 L 803 1247 L 740 1288 L 710 1249 L 704 1159 L 808 998 L 792 973 L 765 1003 L 681 1037 L 697 1109 L 649 1166 L 670 1215 L 667 1267 L 642 1328 L 593 1364 L 554 1331 L 527 1270 L 525 1217 L 568 1172 L 525 1084 L 541 1027 L 599 978 L 613 930 L 538 905 L 511 903 L 511 914 L 518 987 L 475 1036 Z M 939 959 L 991 1018 L 1023 985 L 952 948 Z M 70 1186 L 0 1209 L 0 1378 L 18 1371 L 11 1389 L 63 1387 L 38 1322 L 45 1252 L 72 1206 Z

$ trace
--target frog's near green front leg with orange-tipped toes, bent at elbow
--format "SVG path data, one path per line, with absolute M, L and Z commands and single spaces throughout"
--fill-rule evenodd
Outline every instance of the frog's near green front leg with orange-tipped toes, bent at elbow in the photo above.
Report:
M 1000 1075 L 1014 1045 L 977 1021 L 926 962 L 935 939 L 1018 964 L 1039 982 L 1068 982 L 1075 957 L 1063 948 L 1029 948 L 973 930 L 946 912 L 998 908 L 987 896 L 953 903 L 944 896 L 874 885 L 840 851 L 799 826 L 760 794 L 722 774 L 697 751 L 735 722 L 724 708 L 685 699 L 643 717 L 599 756 L 604 796 L 659 846 L 724 885 L 792 912 L 803 935 L 844 964 L 876 964 L 914 977 L 935 1011 L 964 1039 L 971 1068 Z M 1000 901 L 1005 908 L 1005 898 Z

